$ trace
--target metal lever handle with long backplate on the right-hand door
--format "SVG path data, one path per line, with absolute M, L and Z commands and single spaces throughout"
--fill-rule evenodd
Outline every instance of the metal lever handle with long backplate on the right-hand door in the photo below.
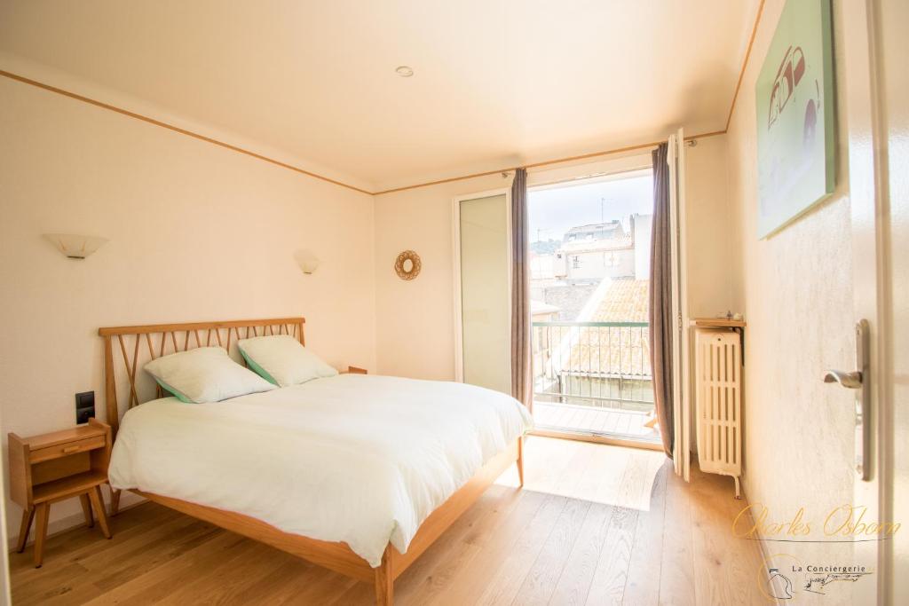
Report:
M 855 390 L 855 472 L 871 480 L 871 373 L 869 373 L 868 321 L 855 323 L 855 369 L 851 372 L 828 370 L 825 383 L 839 383 Z

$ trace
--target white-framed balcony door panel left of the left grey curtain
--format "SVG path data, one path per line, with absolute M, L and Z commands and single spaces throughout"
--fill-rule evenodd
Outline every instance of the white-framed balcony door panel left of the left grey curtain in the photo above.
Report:
M 455 377 L 511 393 L 507 191 L 454 200 Z

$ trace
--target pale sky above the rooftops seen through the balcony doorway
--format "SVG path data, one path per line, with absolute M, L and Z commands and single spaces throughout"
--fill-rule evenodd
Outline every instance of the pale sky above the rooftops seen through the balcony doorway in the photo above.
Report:
M 628 229 L 628 215 L 652 214 L 654 184 L 650 174 L 588 184 L 536 190 L 527 195 L 530 241 L 561 240 L 575 225 L 621 219 Z

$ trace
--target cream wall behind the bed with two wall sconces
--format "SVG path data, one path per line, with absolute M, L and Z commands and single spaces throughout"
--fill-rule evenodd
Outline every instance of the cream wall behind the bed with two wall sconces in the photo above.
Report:
M 4 440 L 73 425 L 75 392 L 105 418 L 100 326 L 302 314 L 329 363 L 375 371 L 372 196 L 5 78 L 0 106 Z M 110 242 L 73 261 L 53 232 Z

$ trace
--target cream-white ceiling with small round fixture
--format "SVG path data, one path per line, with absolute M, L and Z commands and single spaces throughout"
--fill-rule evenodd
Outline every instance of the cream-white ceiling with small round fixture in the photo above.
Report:
M 4 0 L 0 52 L 383 189 L 723 130 L 757 2 Z

